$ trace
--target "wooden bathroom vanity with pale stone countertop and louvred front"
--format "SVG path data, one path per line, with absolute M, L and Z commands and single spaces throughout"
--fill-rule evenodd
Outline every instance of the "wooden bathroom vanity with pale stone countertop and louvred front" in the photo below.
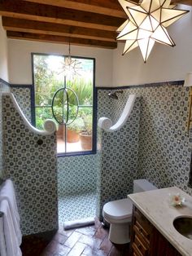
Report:
M 182 206 L 173 206 L 170 202 L 169 194 L 177 193 L 185 197 Z M 192 218 L 191 196 L 172 187 L 131 194 L 129 198 L 133 201 L 131 247 L 134 256 L 192 255 L 192 240 L 173 225 L 180 217 Z

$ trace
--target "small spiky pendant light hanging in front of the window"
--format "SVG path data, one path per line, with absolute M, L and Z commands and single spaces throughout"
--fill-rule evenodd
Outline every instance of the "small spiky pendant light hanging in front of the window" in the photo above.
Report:
M 62 69 L 63 69 L 63 73 L 66 77 L 72 77 L 72 76 L 79 75 L 78 72 L 81 69 L 81 62 L 76 59 L 72 59 L 70 41 L 69 41 L 69 46 L 68 46 L 68 56 L 65 57 L 65 59 L 64 59 Z

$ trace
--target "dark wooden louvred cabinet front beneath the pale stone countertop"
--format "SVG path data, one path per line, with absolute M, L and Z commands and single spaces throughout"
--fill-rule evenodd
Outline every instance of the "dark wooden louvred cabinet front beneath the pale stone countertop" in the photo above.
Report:
M 135 206 L 133 206 L 131 251 L 133 256 L 181 256 Z

